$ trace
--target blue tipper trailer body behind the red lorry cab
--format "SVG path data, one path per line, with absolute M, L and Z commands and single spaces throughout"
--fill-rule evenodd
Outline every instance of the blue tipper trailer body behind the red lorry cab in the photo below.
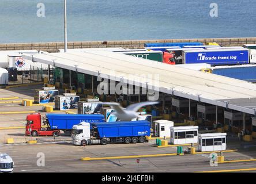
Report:
M 72 129 L 82 121 L 104 122 L 102 114 L 46 114 L 51 129 Z

